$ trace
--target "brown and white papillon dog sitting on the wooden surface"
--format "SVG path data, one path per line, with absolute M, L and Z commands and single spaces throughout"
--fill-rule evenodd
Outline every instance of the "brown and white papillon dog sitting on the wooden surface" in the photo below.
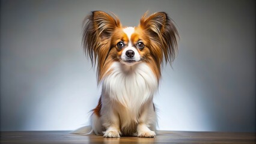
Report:
M 84 50 L 97 67 L 102 95 L 92 110 L 91 126 L 73 133 L 155 137 L 153 95 L 162 64 L 175 57 L 178 31 L 164 12 L 145 13 L 136 27 L 123 27 L 111 15 L 93 11 L 84 22 Z

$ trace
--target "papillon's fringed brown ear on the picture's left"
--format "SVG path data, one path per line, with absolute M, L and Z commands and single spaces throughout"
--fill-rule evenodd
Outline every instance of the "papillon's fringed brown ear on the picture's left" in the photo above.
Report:
M 96 64 L 100 53 L 106 53 L 110 46 L 112 32 L 121 28 L 120 20 L 104 11 L 92 11 L 84 20 L 83 44 L 85 53 Z M 108 46 L 109 45 L 109 46 Z

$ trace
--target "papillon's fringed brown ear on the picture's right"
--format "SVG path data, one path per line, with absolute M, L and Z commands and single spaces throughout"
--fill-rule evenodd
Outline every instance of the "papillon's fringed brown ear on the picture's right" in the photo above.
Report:
M 151 41 L 162 50 L 166 62 L 172 62 L 177 51 L 178 31 L 165 12 L 158 12 L 141 17 L 139 27 L 144 29 Z

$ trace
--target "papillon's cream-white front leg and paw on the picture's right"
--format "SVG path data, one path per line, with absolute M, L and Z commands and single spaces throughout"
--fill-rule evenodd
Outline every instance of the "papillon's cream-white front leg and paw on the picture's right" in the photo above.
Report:
M 150 130 L 155 130 L 156 125 L 156 112 L 154 110 L 153 103 L 145 104 L 142 110 L 141 116 L 139 117 L 139 124 L 137 126 L 137 136 L 138 137 L 154 137 L 156 132 Z

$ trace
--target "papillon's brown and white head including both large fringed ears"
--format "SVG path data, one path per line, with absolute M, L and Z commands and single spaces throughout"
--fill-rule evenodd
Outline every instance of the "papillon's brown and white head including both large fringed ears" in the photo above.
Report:
M 122 27 L 120 20 L 103 11 L 93 11 L 85 19 L 84 49 L 94 65 L 97 63 L 99 80 L 112 62 L 133 66 L 147 63 L 157 78 L 165 60 L 170 62 L 177 51 L 178 32 L 164 12 L 147 13 L 136 27 Z

